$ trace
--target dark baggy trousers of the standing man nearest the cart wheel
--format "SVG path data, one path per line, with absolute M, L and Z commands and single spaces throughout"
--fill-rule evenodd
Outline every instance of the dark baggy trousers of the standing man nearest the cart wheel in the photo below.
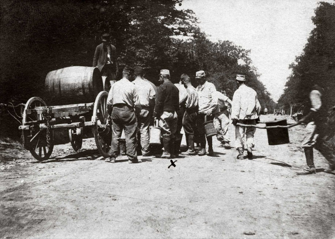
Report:
M 137 120 L 133 109 L 128 107 L 113 107 L 112 112 L 112 145 L 111 157 L 117 156 L 119 141 L 124 129 L 126 137 L 127 156 L 130 161 L 137 161 L 136 131 Z

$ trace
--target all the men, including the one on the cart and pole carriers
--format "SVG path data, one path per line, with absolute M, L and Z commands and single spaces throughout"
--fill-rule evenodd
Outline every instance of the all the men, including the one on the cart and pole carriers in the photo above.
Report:
M 102 43 L 96 47 L 93 67 L 98 67 L 104 80 L 108 77 L 115 82 L 118 64 L 115 57 L 115 47 L 109 41 L 109 34 L 102 36 Z M 125 134 L 126 154 L 129 163 L 139 163 L 137 157 L 138 146 L 143 156 L 149 156 L 149 125 L 158 120 L 161 128 L 164 151 L 161 158 L 172 158 L 180 153 L 182 140 L 181 129 L 184 128 L 187 151 L 183 155 L 213 155 L 212 136 L 206 137 L 204 123 L 213 120 L 217 131 L 217 139 L 224 148 L 229 149 L 230 138 L 227 134 L 228 126 L 232 122 L 235 126 L 235 148 L 237 158 L 244 159 L 244 146 L 247 155 L 252 159 L 252 148 L 255 146 L 255 127 L 245 127 L 238 123 L 256 125 L 261 114 L 261 106 L 257 93 L 246 82 L 244 75 L 237 75 L 238 89 L 231 101 L 224 94 L 216 91 L 214 84 L 206 80 L 204 71 L 196 72 L 197 88 L 191 84 L 188 75 L 182 74 L 180 81 L 173 84 L 167 69 L 160 71 L 157 88 L 152 82 L 144 78 L 141 67 L 125 67 L 122 79 L 111 85 L 107 99 L 108 119 L 112 122 L 112 143 L 110 157 L 107 162 L 115 162 L 119 153 L 119 143 L 122 131 Z M 104 82 L 104 86 L 106 82 Z M 106 90 L 106 87 L 105 87 Z M 301 119 L 300 123 L 308 123 L 303 141 L 307 166 L 301 174 L 316 172 L 313 160 L 313 147 L 318 137 L 318 112 L 321 109 L 323 89 L 315 86 L 310 95 L 311 111 Z M 267 109 L 265 109 L 267 114 Z M 154 120 L 153 120 L 154 119 Z M 195 144 L 197 147 L 195 147 Z

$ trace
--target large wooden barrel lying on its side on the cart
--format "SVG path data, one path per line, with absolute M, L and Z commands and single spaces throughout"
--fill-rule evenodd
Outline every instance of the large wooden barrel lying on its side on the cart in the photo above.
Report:
M 98 68 L 71 66 L 50 71 L 45 78 L 45 90 L 50 102 L 57 105 L 92 103 L 103 91 Z

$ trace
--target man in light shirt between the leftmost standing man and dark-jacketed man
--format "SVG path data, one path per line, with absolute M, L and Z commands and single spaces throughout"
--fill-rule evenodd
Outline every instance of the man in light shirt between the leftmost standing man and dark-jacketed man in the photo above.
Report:
M 135 68 L 135 80 L 133 84 L 137 89 L 137 93 L 141 103 L 141 113 L 138 117 L 138 127 L 140 130 L 140 142 L 142 146 L 142 155 L 149 156 L 149 124 L 152 115 L 152 108 L 156 98 L 155 89 L 151 84 L 143 79 L 143 68 Z

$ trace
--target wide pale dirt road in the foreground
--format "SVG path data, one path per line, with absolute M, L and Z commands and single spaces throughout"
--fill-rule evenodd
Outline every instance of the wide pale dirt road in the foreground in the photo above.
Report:
M 303 128 L 276 146 L 258 129 L 254 160 L 215 147 L 169 169 L 155 157 L 98 160 L 93 139 L 78 153 L 56 146 L 46 162 L 0 144 L 0 238 L 334 239 L 335 175 L 296 175 Z M 315 162 L 328 168 L 317 151 Z

